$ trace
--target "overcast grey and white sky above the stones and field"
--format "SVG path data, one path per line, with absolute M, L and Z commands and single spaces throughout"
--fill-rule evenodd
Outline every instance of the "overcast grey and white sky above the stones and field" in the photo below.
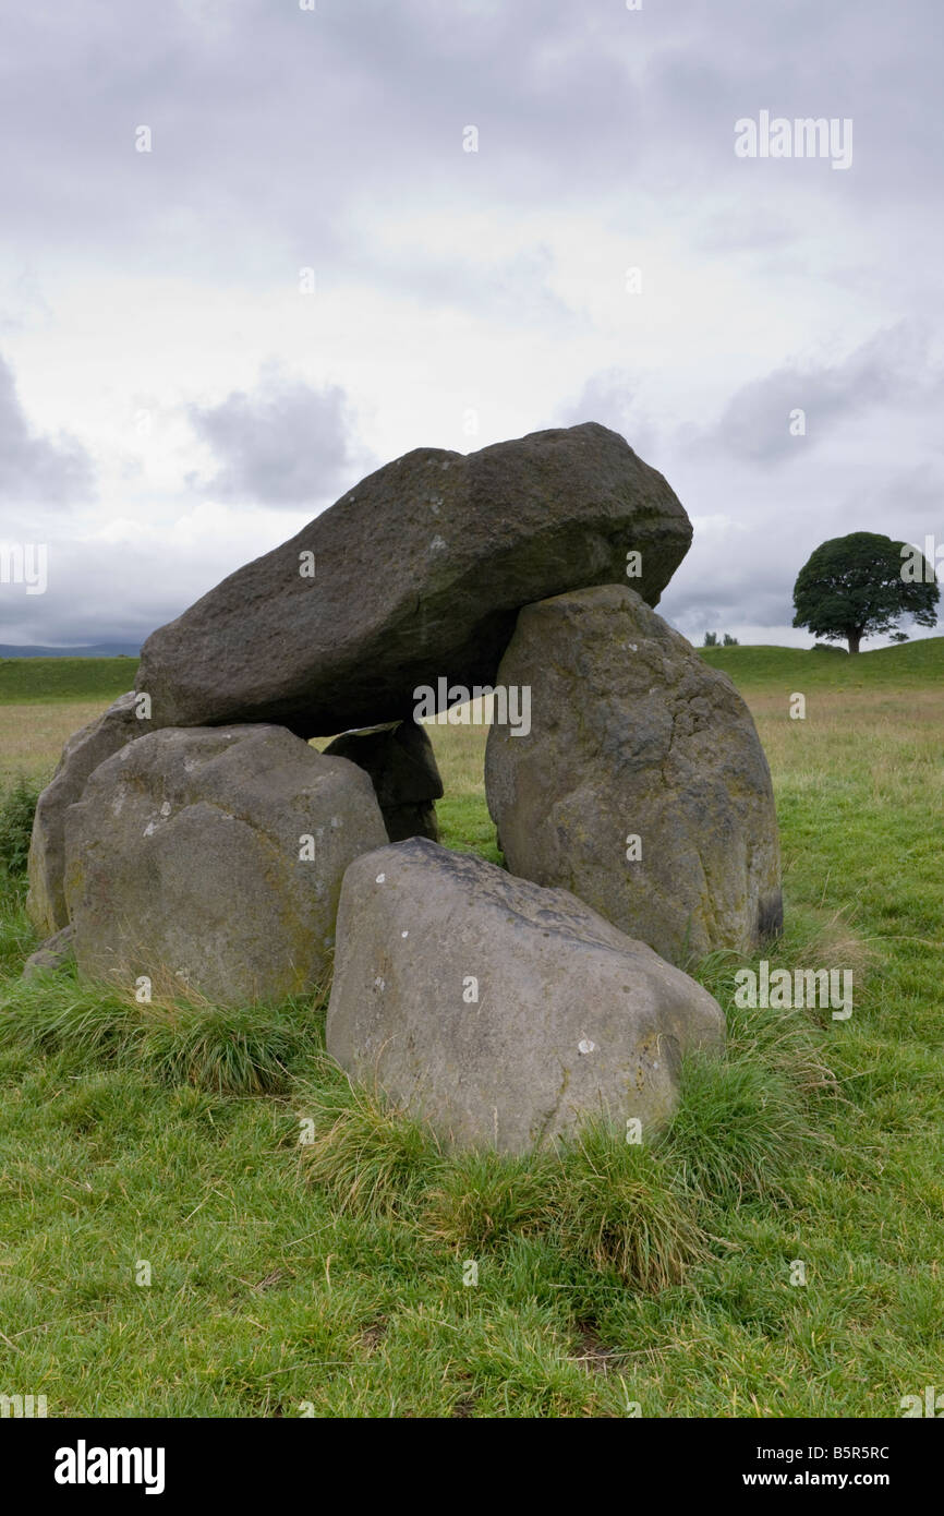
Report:
M 809 646 L 829 537 L 944 544 L 939 0 L 314 3 L 3 9 L 0 543 L 48 588 L 0 641 L 141 640 L 411 447 L 585 420 L 694 522 L 694 641 Z M 852 162 L 738 156 L 765 111 Z

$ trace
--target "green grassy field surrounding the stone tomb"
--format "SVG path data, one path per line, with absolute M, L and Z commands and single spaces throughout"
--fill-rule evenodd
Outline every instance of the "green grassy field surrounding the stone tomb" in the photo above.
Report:
M 770 957 L 853 969 L 852 1017 L 738 1010 L 715 957 L 729 1054 L 689 1063 L 658 1143 L 455 1160 L 338 1076 L 321 1004 L 21 985 L 14 873 L 0 1392 L 65 1416 L 894 1417 L 944 1390 L 944 638 L 706 656 L 774 776 Z M 133 682 L 39 662 L 0 664 L 0 772 L 32 779 Z M 495 858 L 483 729 L 432 735 L 444 840 Z

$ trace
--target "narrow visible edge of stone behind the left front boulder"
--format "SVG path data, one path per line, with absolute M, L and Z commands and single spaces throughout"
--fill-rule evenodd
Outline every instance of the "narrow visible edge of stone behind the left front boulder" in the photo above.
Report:
M 65 870 L 65 813 L 82 799 L 88 776 L 100 763 L 133 738 L 150 731 L 139 719 L 133 691 L 109 705 L 97 720 L 74 732 L 56 772 L 36 803 L 29 850 L 26 910 L 33 926 L 47 937 L 68 923 L 62 876 Z

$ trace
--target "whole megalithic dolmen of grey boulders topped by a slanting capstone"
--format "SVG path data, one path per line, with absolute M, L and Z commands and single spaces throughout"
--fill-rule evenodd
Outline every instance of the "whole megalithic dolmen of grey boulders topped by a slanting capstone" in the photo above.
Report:
M 597 423 L 370 475 L 156 631 L 70 738 L 29 972 L 227 1005 L 330 984 L 329 1052 L 458 1148 L 658 1128 L 682 1058 L 724 1043 L 686 967 L 782 923 L 750 713 L 655 611 L 689 543 Z M 506 869 L 438 844 L 421 720 L 470 690 L 518 696 L 485 764 Z

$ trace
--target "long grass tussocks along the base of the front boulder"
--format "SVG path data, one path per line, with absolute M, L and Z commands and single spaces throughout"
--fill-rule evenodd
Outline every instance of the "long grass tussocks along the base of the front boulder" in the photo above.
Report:
M 395 1216 L 417 1236 L 470 1254 L 511 1237 L 553 1239 L 573 1258 L 639 1290 L 679 1283 L 705 1236 L 671 1166 L 626 1134 L 589 1126 L 558 1152 L 521 1158 L 444 1152 L 429 1128 L 345 1079 L 308 1090 L 315 1123 L 308 1181 L 362 1219 Z

